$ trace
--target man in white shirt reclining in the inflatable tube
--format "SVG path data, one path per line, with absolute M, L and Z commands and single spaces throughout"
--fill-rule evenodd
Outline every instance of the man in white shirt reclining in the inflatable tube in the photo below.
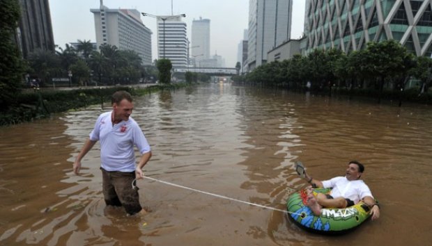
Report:
M 380 217 L 380 208 L 373 199 L 369 187 L 360 180 L 364 166 L 358 161 L 350 161 L 346 169 L 345 177 L 334 177 L 326 181 L 319 181 L 304 172 L 307 182 L 316 188 L 332 188 L 330 195 L 318 193 L 316 197 L 311 188 L 308 189 L 307 206 L 315 215 L 321 215 L 321 208 L 346 208 L 363 200 L 371 207 L 372 220 Z

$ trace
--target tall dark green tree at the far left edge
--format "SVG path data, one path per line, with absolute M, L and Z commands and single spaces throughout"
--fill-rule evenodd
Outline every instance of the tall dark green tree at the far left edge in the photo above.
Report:
M 21 90 L 24 60 L 13 35 L 20 19 L 20 5 L 17 0 L 2 0 L 0 3 L 0 104 L 8 108 Z

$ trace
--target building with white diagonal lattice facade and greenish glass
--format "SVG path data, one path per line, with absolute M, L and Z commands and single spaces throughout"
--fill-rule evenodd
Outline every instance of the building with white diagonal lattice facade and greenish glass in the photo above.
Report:
M 398 40 L 417 56 L 432 53 L 432 0 L 307 0 L 303 54 L 315 48 L 348 53 L 367 42 Z

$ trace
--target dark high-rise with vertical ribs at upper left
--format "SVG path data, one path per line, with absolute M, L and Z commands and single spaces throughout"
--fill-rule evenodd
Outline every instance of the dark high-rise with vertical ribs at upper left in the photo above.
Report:
M 54 52 L 48 0 L 20 0 L 21 18 L 15 42 L 27 58 L 35 49 Z

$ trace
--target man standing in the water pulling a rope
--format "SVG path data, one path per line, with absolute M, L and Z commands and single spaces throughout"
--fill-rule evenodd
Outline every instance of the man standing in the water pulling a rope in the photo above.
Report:
M 79 174 L 82 158 L 100 140 L 100 170 L 105 203 L 123 206 L 130 215 L 145 214 L 132 182 L 135 178 L 144 177 L 141 169 L 150 160 L 151 149 L 141 128 L 130 117 L 134 108 L 130 94 L 125 91 L 115 92 L 111 103 L 113 110 L 98 117 L 95 128 L 73 163 L 73 170 L 75 174 Z M 136 166 L 135 145 L 142 155 Z

